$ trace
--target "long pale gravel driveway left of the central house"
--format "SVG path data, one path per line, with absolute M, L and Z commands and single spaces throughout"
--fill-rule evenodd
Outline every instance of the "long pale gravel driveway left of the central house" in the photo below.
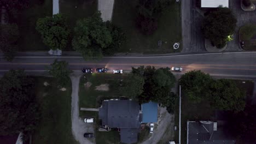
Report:
M 95 143 L 95 140 L 88 140 L 84 138 L 84 133 L 94 133 L 94 125 L 91 123 L 84 123 L 84 120 L 79 117 L 79 80 L 80 76 L 78 74 L 74 74 L 71 76 L 72 82 L 72 109 L 71 109 L 71 116 L 72 116 L 72 134 L 75 140 L 79 141 L 80 144 L 90 144 Z

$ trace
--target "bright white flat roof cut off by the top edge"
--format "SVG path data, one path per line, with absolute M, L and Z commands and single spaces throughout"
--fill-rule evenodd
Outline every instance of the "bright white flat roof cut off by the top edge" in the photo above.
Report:
M 201 0 L 201 8 L 218 8 L 220 5 L 229 8 L 229 0 Z

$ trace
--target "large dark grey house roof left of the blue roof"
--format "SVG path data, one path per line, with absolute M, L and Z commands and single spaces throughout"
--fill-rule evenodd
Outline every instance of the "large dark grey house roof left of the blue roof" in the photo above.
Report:
M 98 112 L 102 125 L 120 129 L 120 140 L 123 143 L 137 142 L 140 132 L 142 112 L 134 100 L 104 100 Z

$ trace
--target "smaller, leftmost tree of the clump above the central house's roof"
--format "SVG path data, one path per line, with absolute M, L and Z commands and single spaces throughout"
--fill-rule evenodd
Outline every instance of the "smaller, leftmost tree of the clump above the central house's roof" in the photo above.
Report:
M 129 74 L 124 81 L 121 92 L 130 99 L 137 100 L 138 96 L 143 92 L 144 79 L 141 76 Z

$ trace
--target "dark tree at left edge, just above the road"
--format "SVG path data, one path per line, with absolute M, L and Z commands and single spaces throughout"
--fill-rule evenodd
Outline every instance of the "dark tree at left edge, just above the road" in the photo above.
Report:
M 15 23 L 0 25 L 0 49 L 7 61 L 13 61 L 18 51 L 19 29 Z

